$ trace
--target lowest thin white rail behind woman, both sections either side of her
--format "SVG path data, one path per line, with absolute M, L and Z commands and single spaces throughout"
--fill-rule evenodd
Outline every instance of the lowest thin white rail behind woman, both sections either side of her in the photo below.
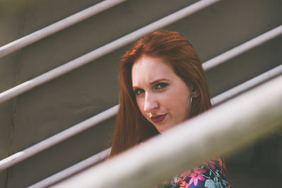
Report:
M 233 96 L 245 92 L 248 89 L 255 87 L 256 85 L 261 84 L 262 82 L 270 80 L 271 78 L 281 74 L 282 74 L 282 65 L 279 65 L 278 67 L 273 68 L 265 73 L 262 73 L 262 75 L 258 75 L 257 77 L 254 77 L 251 80 L 248 80 L 247 82 L 238 85 L 237 87 L 233 87 L 233 89 L 230 89 L 227 92 L 223 92 L 222 94 L 215 96 L 214 98 L 212 98 L 212 101 L 214 101 L 213 105 L 218 105 L 219 103 L 226 101 L 227 99 L 231 99 Z M 97 158 L 97 155 L 99 156 L 101 161 L 104 161 L 108 157 L 106 153 L 104 153 L 104 155 L 101 157 L 100 157 L 100 153 L 98 153 L 90 158 Z M 85 159 L 85 161 L 91 161 L 91 159 L 90 160 Z M 94 163 L 87 163 L 87 164 L 88 167 L 90 167 L 98 162 L 99 161 L 94 161 Z M 37 182 L 36 184 L 33 184 L 31 187 L 32 188 L 47 187 L 51 184 L 54 184 L 56 182 L 59 182 L 60 180 L 65 179 L 66 177 L 78 173 L 78 171 L 84 169 L 85 167 L 86 167 L 85 163 L 82 163 L 82 165 L 75 164 L 75 168 L 66 168 L 65 170 L 62 170 L 60 173 L 51 175 L 50 177 L 47 177 L 46 179 Z

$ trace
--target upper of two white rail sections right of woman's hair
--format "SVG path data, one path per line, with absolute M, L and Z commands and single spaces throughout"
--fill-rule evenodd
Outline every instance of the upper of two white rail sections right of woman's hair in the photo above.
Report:
M 239 46 L 236 46 L 235 48 L 226 51 L 225 53 L 216 56 L 210 59 L 209 61 L 206 61 L 205 63 L 203 63 L 203 68 L 204 70 L 212 69 L 216 65 L 226 62 L 231 58 L 234 58 L 235 56 L 239 56 L 240 54 L 243 54 L 245 51 L 253 49 L 256 46 L 259 46 L 264 42 L 274 39 L 275 37 L 278 37 L 281 34 L 282 34 L 282 25 L 274 28 L 273 30 L 270 30 L 269 32 L 265 32 L 264 34 L 259 35 L 258 37 L 255 37 L 254 39 L 251 39 L 248 42 L 240 44 Z

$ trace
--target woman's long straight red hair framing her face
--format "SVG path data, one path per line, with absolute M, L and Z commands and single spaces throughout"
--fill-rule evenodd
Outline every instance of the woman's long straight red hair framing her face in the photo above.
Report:
M 118 79 L 121 84 L 111 156 L 114 156 L 149 137 L 157 129 L 142 117 L 132 89 L 131 69 L 140 56 L 163 58 L 188 86 L 199 96 L 193 98 L 189 118 L 211 108 L 207 78 L 192 44 L 179 32 L 158 30 L 139 39 L 121 58 Z

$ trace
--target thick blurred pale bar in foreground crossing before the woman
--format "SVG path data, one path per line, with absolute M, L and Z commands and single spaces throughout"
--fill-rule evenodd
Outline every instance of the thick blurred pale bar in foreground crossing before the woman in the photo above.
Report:
M 53 187 L 153 187 L 231 154 L 281 126 L 281 83 L 282 75 Z

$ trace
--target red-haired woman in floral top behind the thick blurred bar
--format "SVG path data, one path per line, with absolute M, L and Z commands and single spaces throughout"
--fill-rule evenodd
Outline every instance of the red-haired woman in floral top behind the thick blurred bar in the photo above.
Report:
M 145 142 L 212 107 L 200 58 L 178 32 L 159 30 L 121 58 L 120 107 L 110 156 Z M 160 187 L 228 187 L 220 158 Z

